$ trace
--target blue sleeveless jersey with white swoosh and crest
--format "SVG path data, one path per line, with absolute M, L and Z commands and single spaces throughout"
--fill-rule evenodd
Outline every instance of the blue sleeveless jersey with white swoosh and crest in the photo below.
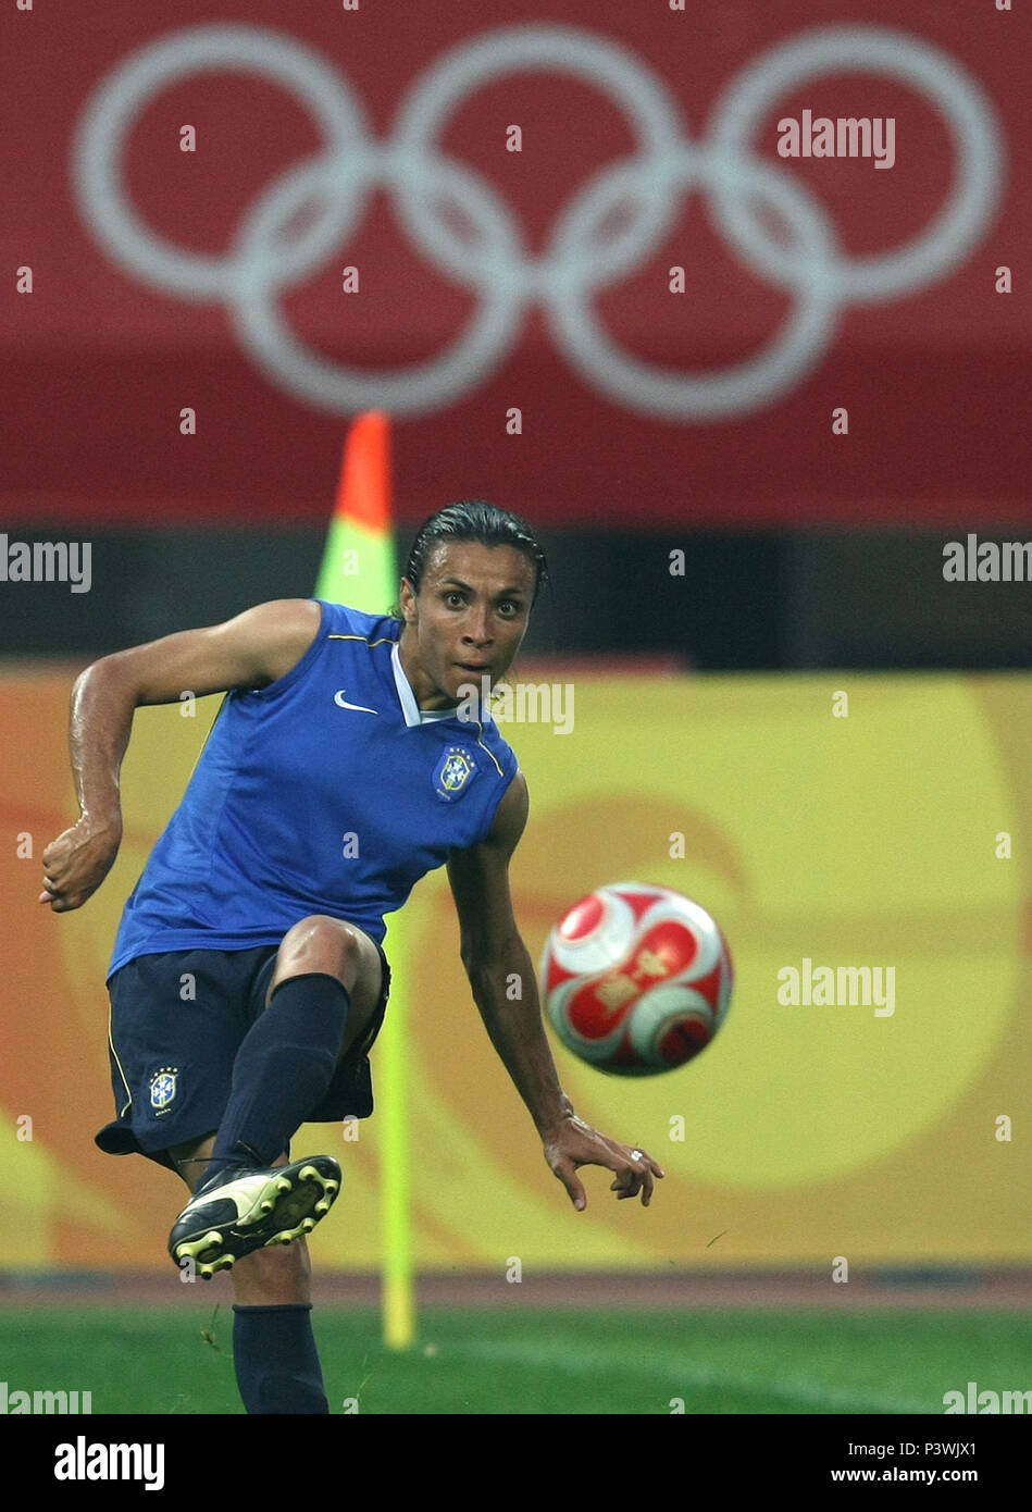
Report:
M 277 945 L 310 913 L 382 942 L 419 878 L 488 836 L 517 759 L 487 709 L 420 718 L 402 623 L 316 602 L 296 667 L 222 700 L 125 903 L 109 977 L 156 951 Z

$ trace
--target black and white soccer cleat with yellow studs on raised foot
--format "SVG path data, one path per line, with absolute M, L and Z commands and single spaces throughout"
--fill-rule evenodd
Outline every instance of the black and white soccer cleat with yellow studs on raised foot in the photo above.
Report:
M 311 1234 L 340 1190 L 332 1155 L 313 1155 L 290 1166 L 231 1166 L 196 1191 L 169 1234 L 168 1252 L 181 1269 L 192 1261 L 210 1281 L 266 1244 L 289 1244 Z

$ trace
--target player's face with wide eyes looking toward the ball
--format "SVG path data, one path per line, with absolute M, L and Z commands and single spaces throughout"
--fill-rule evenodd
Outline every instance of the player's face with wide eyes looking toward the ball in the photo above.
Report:
M 402 578 L 400 658 L 422 709 L 450 708 L 506 674 L 530 618 L 535 567 L 512 546 L 452 541 L 432 552 L 419 597 Z M 462 689 L 462 691 L 459 691 Z

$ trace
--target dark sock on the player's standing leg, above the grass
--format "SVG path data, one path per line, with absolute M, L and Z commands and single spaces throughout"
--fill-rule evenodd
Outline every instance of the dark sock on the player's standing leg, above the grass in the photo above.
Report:
M 234 1303 L 233 1367 L 248 1412 L 329 1412 L 311 1302 Z

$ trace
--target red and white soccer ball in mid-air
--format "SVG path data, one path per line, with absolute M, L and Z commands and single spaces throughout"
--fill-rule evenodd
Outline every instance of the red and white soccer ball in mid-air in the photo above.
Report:
M 539 968 L 552 1025 L 574 1055 L 620 1077 L 683 1066 L 713 1039 L 734 966 L 706 909 L 669 888 L 618 881 L 570 909 Z

